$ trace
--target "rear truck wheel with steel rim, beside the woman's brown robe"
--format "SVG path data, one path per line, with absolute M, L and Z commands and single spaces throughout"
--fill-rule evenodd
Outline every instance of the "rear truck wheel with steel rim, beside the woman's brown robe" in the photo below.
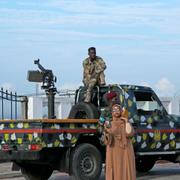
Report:
M 98 180 L 102 170 L 99 150 L 91 144 L 78 145 L 71 155 L 72 180 Z

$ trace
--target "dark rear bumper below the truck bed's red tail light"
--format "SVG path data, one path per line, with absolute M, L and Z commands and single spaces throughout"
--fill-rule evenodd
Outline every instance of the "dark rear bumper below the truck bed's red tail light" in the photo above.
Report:
M 38 160 L 40 159 L 39 151 L 0 151 L 0 160 Z

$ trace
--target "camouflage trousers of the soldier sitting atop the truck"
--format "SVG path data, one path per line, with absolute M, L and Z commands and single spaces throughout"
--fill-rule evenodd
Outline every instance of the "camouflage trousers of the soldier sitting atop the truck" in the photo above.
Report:
M 83 80 L 85 86 L 87 87 L 87 91 L 85 94 L 84 102 L 91 102 L 92 90 L 96 85 L 105 85 L 105 75 L 104 72 L 100 73 L 98 78 L 84 78 Z

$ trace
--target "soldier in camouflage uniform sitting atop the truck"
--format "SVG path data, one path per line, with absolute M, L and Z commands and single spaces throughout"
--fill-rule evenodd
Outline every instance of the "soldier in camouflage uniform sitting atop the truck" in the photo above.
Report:
M 89 57 L 83 61 L 83 83 L 87 88 L 84 102 L 91 101 L 91 93 L 96 85 L 105 85 L 105 75 L 104 70 L 106 69 L 106 64 L 103 59 L 96 56 L 96 48 L 90 47 L 88 49 Z

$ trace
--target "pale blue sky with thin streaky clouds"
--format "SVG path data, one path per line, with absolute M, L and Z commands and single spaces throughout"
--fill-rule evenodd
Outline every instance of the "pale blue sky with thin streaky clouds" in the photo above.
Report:
M 180 95 L 179 0 L 0 0 L 0 87 L 35 92 L 35 59 L 60 89 L 82 83 L 82 61 L 96 47 L 107 83 Z

